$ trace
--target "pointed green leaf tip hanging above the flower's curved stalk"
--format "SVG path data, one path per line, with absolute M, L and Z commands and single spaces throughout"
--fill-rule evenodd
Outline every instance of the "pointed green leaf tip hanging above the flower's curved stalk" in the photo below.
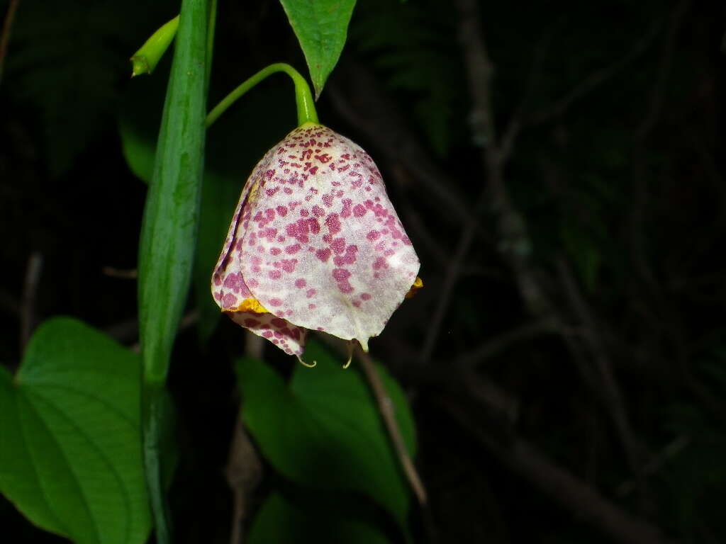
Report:
M 356 0 L 280 0 L 298 37 L 315 88 L 315 99 L 346 44 Z

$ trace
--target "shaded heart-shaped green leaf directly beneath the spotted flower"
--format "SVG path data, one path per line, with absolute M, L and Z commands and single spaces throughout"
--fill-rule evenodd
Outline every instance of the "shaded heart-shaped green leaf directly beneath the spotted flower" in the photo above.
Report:
M 295 367 L 290 384 L 257 360 L 237 365 L 242 416 L 264 457 L 293 482 L 365 493 L 405 530 L 409 490 L 362 375 L 310 342 L 315 368 Z M 414 424 L 401 388 L 376 366 L 411 453 Z

